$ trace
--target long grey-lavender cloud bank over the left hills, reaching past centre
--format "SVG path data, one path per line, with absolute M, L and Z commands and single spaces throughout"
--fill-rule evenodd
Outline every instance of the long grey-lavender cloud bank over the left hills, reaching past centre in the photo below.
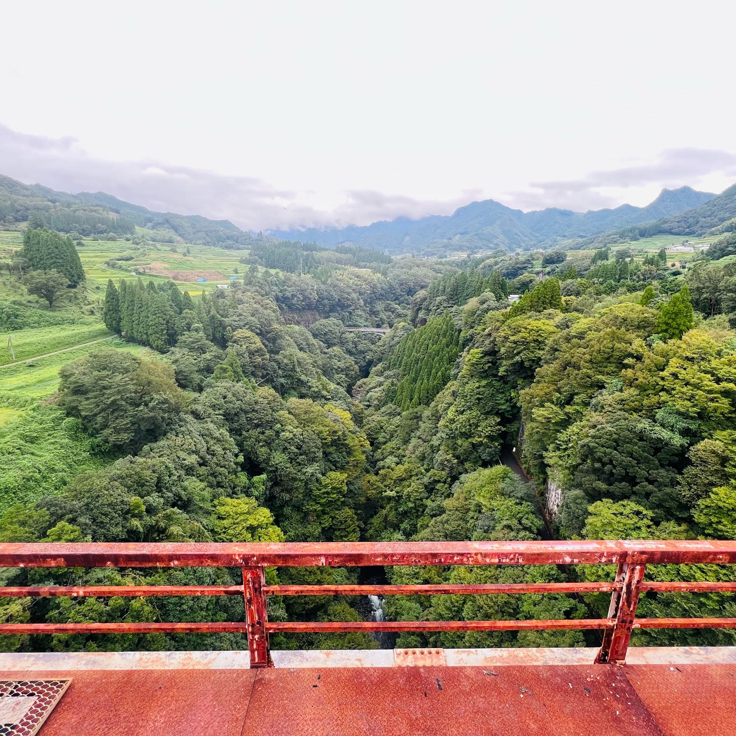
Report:
M 450 214 L 478 192 L 449 202 L 377 191 L 348 191 L 332 211 L 305 205 L 297 192 L 236 177 L 153 161 L 93 158 L 73 138 L 48 138 L 0 125 L 0 173 L 60 191 L 105 191 L 151 210 L 227 219 L 250 230 L 369 224 L 378 219 Z

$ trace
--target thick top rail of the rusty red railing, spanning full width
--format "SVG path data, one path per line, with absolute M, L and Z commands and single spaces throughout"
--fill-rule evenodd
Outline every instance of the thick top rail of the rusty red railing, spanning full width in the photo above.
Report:
M 618 562 L 736 563 L 736 541 L 0 544 L 0 567 L 341 567 Z

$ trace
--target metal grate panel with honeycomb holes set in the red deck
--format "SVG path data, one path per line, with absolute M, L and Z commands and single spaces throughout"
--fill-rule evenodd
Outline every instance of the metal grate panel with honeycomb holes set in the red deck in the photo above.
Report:
M 33 736 L 71 679 L 0 680 L 0 736 Z

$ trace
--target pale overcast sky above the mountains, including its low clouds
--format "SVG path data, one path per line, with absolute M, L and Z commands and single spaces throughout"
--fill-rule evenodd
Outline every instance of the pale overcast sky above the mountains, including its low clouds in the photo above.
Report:
M 0 173 L 241 227 L 736 181 L 732 0 L 15 2 Z

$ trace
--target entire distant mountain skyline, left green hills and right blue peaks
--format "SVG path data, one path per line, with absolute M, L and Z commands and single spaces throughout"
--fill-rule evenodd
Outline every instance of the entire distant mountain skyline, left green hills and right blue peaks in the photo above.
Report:
M 247 248 L 252 243 L 250 233 L 228 220 L 155 212 L 105 192 L 68 194 L 40 184 L 26 185 L 0 174 L 0 227 L 3 223 L 26 222 L 33 212 L 40 213 L 49 227 L 64 233 L 77 230 L 82 235 L 121 235 L 135 232 L 137 225 L 154 230 L 157 240 L 169 243 L 225 248 Z M 724 230 L 736 230 L 736 185 L 718 195 L 687 186 L 663 189 L 646 207 L 621 205 L 585 213 L 558 208 L 522 212 L 486 199 L 471 202 L 451 216 L 433 215 L 418 220 L 399 217 L 364 227 L 275 230 L 269 235 L 316 242 L 324 247 L 350 243 L 392 254 L 439 255 L 442 251 L 498 247 L 546 249 L 562 242 L 566 247 L 581 247 L 609 237 L 628 240 L 630 236 L 657 233 L 701 236 Z

